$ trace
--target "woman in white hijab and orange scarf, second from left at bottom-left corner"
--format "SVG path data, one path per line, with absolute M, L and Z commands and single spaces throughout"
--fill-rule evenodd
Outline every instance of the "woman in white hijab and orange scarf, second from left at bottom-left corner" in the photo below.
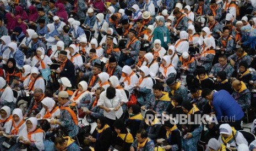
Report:
M 26 124 L 23 119 L 23 114 L 21 109 L 15 108 L 12 113 L 12 119 L 6 122 L 6 130 L 0 131 L 0 135 L 6 134 L 7 137 L 1 137 L 0 138 L 0 150 L 6 150 L 6 148 L 3 147 L 4 141 L 11 141 L 13 143 L 16 142 L 14 140 L 14 137 L 19 136 L 20 132 L 23 131 L 23 129 L 26 129 Z

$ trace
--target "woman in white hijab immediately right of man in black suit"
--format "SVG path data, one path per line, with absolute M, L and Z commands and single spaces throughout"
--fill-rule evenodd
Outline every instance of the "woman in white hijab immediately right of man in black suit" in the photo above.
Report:
M 81 69 L 83 66 L 83 58 L 81 57 L 81 55 L 78 53 L 77 51 L 77 46 L 75 46 L 74 44 L 70 44 L 69 45 L 69 55 L 68 55 L 68 59 L 73 62 L 75 69 Z

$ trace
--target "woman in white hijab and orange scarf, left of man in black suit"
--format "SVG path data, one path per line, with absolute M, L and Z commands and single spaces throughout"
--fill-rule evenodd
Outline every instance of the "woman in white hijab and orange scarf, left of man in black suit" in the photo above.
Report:
M 36 55 L 32 58 L 31 66 L 38 69 L 48 69 L 52 64 L 50 57 L 45 55 L 45 49 L 39 47 L 36 49 Z

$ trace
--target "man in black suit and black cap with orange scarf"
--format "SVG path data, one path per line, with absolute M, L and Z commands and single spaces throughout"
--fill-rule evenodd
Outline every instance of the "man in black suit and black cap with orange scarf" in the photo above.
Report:
M 61 77 L 66 77 L 72 84 L 72 88 L 75 88 L 75 67 L 72 61 L 67 57 L 67 51 L 62 50 L 59 53 L 59 60 L 61 61 L 61 67 L 56 71 Z

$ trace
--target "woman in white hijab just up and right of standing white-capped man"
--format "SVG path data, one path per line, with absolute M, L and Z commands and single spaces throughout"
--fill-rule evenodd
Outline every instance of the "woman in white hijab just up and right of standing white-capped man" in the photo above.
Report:
M 91 96 L 89 94 L 89 91 L 87 90 L 88 84 L 85 81 L 81 81 L 78 84 L 78 89 L 75 90 L 75 92 L 73 93 L 73 95 L 71 96 L 70 100 L 79 104 L 82 100 L 83 97 L 89 97 L 89 99 L 86 100 L 90 100 Z M 88 96 L 89 95 L 89 96 Z M 84 98 L 83 98 L 84 100 Z

